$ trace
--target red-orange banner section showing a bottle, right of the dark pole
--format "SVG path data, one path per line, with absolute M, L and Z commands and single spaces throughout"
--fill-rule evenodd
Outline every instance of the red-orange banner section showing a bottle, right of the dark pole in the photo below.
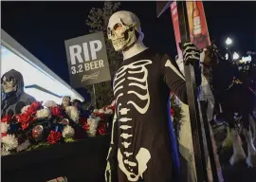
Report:
M 191 42 L 202 49 L 210 45 L 206 15 L 202 1 L 187 1 L 187 13 Z

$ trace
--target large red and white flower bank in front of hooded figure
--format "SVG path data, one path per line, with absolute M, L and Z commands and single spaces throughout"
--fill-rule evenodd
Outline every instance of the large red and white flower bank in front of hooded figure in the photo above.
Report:
M 86 137 L 74 106 L 62 107 L 54 101 L 34 101 L 21 114 L 1 118 L 1 155 L 70 142 Z

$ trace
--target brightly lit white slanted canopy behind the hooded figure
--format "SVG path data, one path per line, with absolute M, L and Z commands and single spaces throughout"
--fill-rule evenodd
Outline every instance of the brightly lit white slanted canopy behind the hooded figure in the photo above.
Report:
M 64 96 L 70 96 L 83 101 L 77 91 L 1 29 L 1 77 L 10 69 L 21 72 L 27 87 L 25 91 L 36 100 L 60 103 Z

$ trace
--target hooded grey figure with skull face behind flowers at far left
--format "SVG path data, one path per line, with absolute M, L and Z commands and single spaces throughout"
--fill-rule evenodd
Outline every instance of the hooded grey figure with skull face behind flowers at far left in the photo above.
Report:
M 1 116 L 20 114 L 24 106 L 35 101 L 33 97 L 24 92 L 23 76 L 14 69 L 2 76 L 1 88 Z

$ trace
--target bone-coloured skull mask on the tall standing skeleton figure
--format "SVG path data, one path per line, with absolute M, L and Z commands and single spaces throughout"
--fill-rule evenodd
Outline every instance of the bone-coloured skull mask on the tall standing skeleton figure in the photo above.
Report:
M 116 51 L 122 51 L 135 44 L 139 36 L 143 39 L 137 15 L 125 10 L 115 12 L 110 17 L 107 35 Z

